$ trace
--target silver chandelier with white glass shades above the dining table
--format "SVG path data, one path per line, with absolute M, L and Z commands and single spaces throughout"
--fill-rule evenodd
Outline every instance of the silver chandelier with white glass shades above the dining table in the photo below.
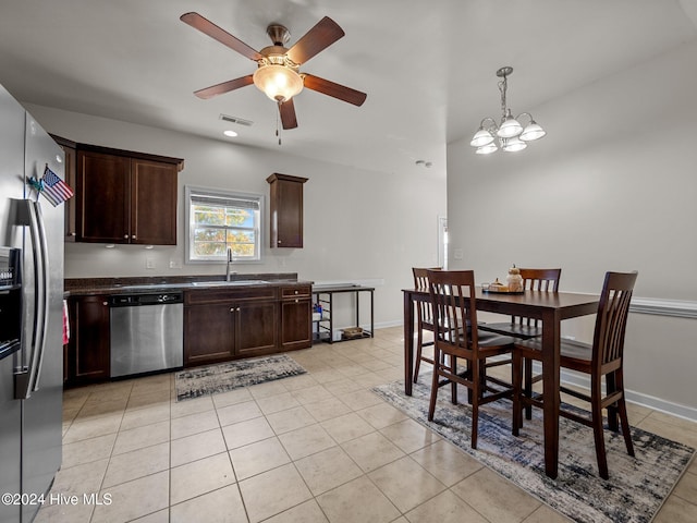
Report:
M 539 139 L 547 132 L 535 121 L 529 112 L 522 112 L 513 118 L 511 109 L 506 107 L 505 92 L 508 89 L 508 77 L 513 73 L 513 68 L 505 66 L 497 71 L 497 76 L 503 78 L 499 82 L 501 92 L 501 123 L 497 125 L 493 118 L 487 117 L 481 120 L 479 129 L 472 137 L 469 145 L 477 148 L 478 155 L 489 155 L 499 149 L 499 146 L 506 153 L 515 153 L 527 147 L 528 142 Z M 523 126 L 521 119 L 529 122 Z M 497 144 L 498 143 L 498 144 Z

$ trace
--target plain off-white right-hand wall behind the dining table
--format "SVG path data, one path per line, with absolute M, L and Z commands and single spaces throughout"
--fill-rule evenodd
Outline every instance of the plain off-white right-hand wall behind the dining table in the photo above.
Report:
M 480 281 L 508 267 L 562 267 L 561 289 L 600 291 L 638 270 L 635 296 L 697 302 L 697 45 L 529 110 L 548 136 L 517 154 L 448 147 L 452 268 Z M 485 114 L 482 114 L 484 117 Z M 591 321 L 564 332 L 590 341 Z M 697 319 L 632 314 L 634 398 L 697 418 Z

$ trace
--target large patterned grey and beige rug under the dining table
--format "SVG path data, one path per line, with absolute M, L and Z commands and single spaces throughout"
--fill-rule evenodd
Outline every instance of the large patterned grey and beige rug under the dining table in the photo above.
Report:
M 428 385 L 421 385 L 428 384 Z M 494 401 L 479 408 L 477 449 L 469 446 L 472 409 L 450 402 L 450 387 L 438 394 L 433 422 L 428 422 L 430 375 L 424 375 L 404 394 L 404 382 L 372 389 L 409 417 L 452 441 L 479 462 L 521 488 L 583 523 L 648 523 L 687 467 L 695 449 L 639 428 L 632 428 L 636 458 L 626 453 L 621 435 L 606 431 L 610 481 L 598 475 L 592 429 L 575 422 L 560 421 L 559 475 L 545 474 L 542 414 L 533 409 L 521 437 L 511 434 L 511 402 Z M 458 399 L 467 392 L 458 391 Z

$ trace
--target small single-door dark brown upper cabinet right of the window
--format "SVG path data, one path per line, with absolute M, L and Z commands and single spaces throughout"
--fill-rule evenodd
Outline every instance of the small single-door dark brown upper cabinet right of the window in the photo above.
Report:
M 273 173 L 271 185 L 271 247 L 303 247 L 303 184 L 307 178 Z

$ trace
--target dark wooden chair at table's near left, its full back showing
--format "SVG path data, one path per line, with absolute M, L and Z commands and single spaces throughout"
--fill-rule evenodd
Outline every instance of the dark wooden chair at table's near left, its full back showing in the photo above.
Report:
M 427 276 L 436 328 L 428 419 L 433 421 L 440 387 L 451 384 L 454 404 L 457 404 L 457 385 L 467 387 L 472 403 L 472 448 L 476 449 L 479 405 L 513 394 L 512 384 L 487 377 L 484 365 L 488 357 L 511 353 L 515 340 L 466 327 L 477 325 L 474 271 L 429 270 Z M 466 364 L 462 372 L 457 367 L 458 358 Z

